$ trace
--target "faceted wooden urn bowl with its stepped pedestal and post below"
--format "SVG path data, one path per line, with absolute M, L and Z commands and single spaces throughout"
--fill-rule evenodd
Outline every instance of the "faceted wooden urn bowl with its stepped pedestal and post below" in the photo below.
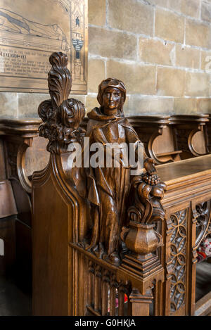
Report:
M 130 221 L 124 241 L 130 253 L 124 255 L 117 272 L 120 279 L 129 279 L 132 284 L 129 296 L 132 315 L 147 316 L 154 298 L 152 288 L 157 288 L 158 282 L 164 281 L 164 269 L 158 255 L 155 255 L 155 250 L 162 245 L 162 236 L 154 230 L 154 224 Z

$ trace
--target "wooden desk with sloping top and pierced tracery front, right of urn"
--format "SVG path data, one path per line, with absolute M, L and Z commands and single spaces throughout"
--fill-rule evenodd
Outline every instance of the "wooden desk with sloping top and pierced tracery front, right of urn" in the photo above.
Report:
M 160 252 L 166 278 L 161 289 L 162 310 L 164 315 L 200 315 L 203 304 L 206 315 L 211 296 L 196 303 L 196 266 L 200 242 L 211 237 L 211 156 L 158 165 L 158 174 L 167 184 L 162 200 L 166 212 L 162 226 L 165 246 Z M 181 290 L 177 291 L 179 283 Z

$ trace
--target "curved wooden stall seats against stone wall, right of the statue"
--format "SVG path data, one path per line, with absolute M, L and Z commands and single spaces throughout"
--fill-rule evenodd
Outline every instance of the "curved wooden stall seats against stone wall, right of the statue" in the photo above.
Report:
M 156 164 L 209 153 L 209 115 L 136 115 L 129 122 Z

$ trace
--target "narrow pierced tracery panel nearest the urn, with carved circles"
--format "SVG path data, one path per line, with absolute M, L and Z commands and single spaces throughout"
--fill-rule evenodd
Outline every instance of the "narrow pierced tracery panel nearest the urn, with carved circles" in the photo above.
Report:
M 171 259 L 172 279 L 170 290 L 171 314 L 184 305 L 186 297 L 186 233 L 187 210 L 181 210 L 171 215 Z

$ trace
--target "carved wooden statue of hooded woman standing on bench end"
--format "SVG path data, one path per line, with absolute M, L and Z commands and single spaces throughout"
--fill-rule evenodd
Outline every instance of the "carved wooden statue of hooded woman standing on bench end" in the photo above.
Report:
M 93 250 L 99 257 L 108 258 L 116 265 L 120 264 L 120 231 L 124 225 L 130 182 L 131 165 L 124 164 L 124 149 L 129 143 L 140 143 L 133 127 L 124 118 L 125 98 L 126 89 L 123 82 L 112 78 L 103 80 L 98 91 L 101 107 L 88 113 L 86 133 L 90 144 L 100 143 L 105 153 L 112 153 L 110 144 L 115 144 L 111 156 L 112 167 L 108 167 L 106 162 L 104 167 L 89 167 L 87 188 L 88 199 L 94 209 L 89 250 Z M 119 163 L 115 164 L 117 153 L 120 158 L 117 160 Z

